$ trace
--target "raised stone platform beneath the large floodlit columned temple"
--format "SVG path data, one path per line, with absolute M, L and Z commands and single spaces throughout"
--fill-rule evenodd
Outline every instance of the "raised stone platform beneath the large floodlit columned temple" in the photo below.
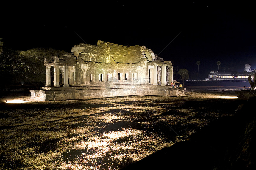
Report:
M 82 86 L 82 87 L 42 87 L 41 90 L 30 90 L 30 99 L 39 101 L 57 101 L 70 99 L 91 99 L 117 96 L 186 96 L 186 88 L 172 88 L 171 86 L 153 85 L 110 85 L 110 86 Z

